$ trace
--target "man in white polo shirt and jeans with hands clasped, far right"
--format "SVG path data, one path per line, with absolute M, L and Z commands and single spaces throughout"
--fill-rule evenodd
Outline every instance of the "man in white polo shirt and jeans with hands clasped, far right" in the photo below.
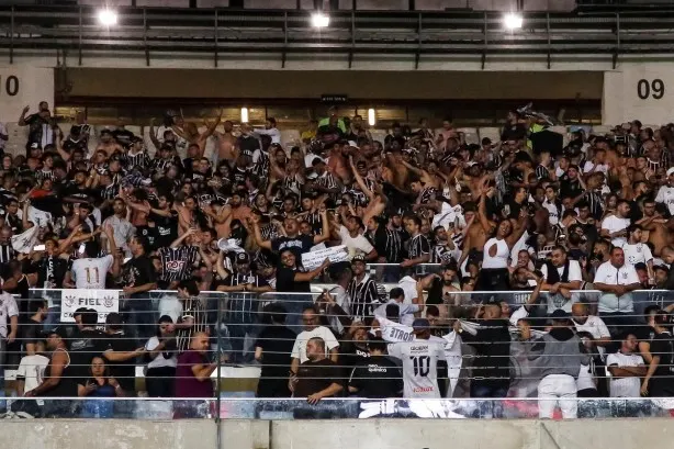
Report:
M 610 259 L 597 268 L 594 287 L 603 292 L 598 311 L 609 327 L 640 324 L 633 316 L 631 292 L 640 289 L 641 284 L 634 267 L 625 262 L 622 248 L 614 247 Z

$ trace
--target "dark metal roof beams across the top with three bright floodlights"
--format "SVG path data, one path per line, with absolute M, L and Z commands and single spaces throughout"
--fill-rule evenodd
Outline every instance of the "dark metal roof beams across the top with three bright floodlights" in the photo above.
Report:
M 525 27 L 504 29 L 490 12 L 333 11 L 330 26 L 316 31 L 307 11 L 224 11 L 120 8 L 119 24 L 101 30 L 96 9 L 0 7 L 0 48 L 9 63 L 22 52 L 59 49 L 142 52 L 146 65 L 155 53 L 211 53 L 213 65 L 227 52 L 278 52 L 284 66 L 290 54 L 335 52 L 349 67 L 356 55 L 409 55 L 415 67 L 426 55 L 476 55 L 484 67 L 490 55 L 604 54 L 617 64 L 625 54 L 666 54 L 674 48 L 674 16 L 622 14 L 580 16 L 528 13 Z

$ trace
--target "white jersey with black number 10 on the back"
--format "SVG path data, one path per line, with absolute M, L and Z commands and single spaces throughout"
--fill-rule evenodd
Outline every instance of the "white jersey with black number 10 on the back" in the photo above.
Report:
M 403 361 L 405 397 L 439 399 L 438 360 L 447 341 L 414 339 L 392 345 L 390 355 Z

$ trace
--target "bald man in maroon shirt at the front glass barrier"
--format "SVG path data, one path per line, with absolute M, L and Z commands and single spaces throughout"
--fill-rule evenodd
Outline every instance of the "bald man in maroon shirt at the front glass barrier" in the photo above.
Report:
M 213 397 L 211 374 L 217 363 L 211 362 L 209 335 L 196 333 L 190 340 L 190 349 L 178 357 L 176 369 L 176 397 Z

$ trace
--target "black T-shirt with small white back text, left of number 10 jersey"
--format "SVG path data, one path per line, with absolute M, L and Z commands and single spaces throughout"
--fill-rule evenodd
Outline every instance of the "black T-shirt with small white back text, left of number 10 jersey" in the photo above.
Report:
M 356 394 L 362 397 L 400 397 L 403 372 L 389 357 L 372 356 L 353 367 L 349 386 L 357 388 Z

